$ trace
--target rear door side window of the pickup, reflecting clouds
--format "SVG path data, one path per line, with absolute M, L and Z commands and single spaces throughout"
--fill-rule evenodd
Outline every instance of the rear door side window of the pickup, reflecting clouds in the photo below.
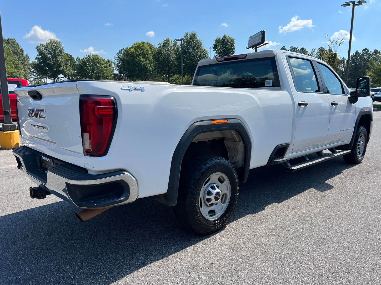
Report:
M 295 57 L 288 58 L 294 72 L 296 90 L 303 92 L 320 92 L 312 62 Z

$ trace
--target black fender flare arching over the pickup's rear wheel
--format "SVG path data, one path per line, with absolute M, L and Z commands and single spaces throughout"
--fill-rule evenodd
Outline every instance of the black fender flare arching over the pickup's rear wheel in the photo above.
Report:
M 250 158 L 251 158 L 251 139 L 249 132 L 243 122 L 239 119 L 227 119 L 227 123 L 217 123 L 213 124 L 210 120 L 203 120 L 193 123 L 181 137 L 179 143 L 174 150 L 171 162 L 171 169 L 168 181 L 168 190 L 164 194 L 156 195 L 157 201 L 166 204 L 168 206 L 175 206 L 177 203 L 177 195 L 179 190 L 179 179 L 180 179 L 180 169 L 182 158 L 192 140 L 200 133 L 208 133 L 210 131 L 226 131 L 235 130 L 237 131 L 243 143 L 245 145 L 245 162 L 244 162 L 244 173 L 243 173 L 243 183 L 246 182 L 250 170 Z

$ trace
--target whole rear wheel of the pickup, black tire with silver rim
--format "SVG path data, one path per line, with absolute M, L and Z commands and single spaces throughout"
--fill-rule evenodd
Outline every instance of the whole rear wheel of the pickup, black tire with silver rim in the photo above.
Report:
M 226 225 L 232 216 L 238 193 L 237 172 L 229 160 L 198 155 L 181 169 L 173 210 L 179 222 L 191 231 L 211 234 Z

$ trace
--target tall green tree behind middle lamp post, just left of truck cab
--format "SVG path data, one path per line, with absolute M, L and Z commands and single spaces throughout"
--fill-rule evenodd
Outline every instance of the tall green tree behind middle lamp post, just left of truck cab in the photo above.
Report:
M 184 35 L 186 42 L 182 44 L 182 60 L 184 74 L 189 74 L 193 78 L 197 63 L 202 59 L 208 59 L 208 50 L 202 45 L 202 41 L 198 38 L 195 31 Z M 180 51 L 177 55 L 178 73 L 181 75 Z

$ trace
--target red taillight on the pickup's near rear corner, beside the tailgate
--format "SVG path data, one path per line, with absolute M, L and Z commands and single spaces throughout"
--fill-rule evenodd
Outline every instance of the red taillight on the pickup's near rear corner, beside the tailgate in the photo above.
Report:
M 83 154 L 107 154 L 114 135 L 117 109 L 114 97 L 82 95 L 79 99 Z

